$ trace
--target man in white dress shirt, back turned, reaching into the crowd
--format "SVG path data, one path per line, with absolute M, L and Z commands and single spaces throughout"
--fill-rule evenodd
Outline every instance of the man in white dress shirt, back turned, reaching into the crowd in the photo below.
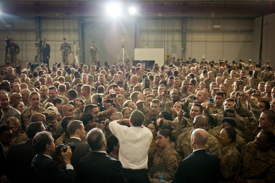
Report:
M 118 158 L 129 183 L 150 182 L 147 161 L 153 135 L 148 128 L 142 126 L 144 122 L 144 114 L 134 110 L 130 116 L 131 127 L 120 125 L 117 121 L 109 123 L 111 132 L 120 142 Z

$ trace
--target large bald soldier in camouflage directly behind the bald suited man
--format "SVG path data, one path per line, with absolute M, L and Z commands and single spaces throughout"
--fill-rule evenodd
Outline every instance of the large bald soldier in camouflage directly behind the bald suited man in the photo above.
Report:
M 207 119 L 202 115 L 198 115 L 194 118 L 192 126 L 193 126 L 193 129 L 190 132 L 184 132 L 181 135 L 179 135 L 177 138 L 175 149 L 177 150 L 179 156 L 182 159 L 186 158 L 192 153 L 192 146 L 190 144 L 192 132 L 198 128 L 201 128 L 205 131 L 208 130 Z M 220 149 L 218 148 L 217 139 L 211 134 L 209 133 L 207 134 L 208 134 L 208 141 L 205 144 L 206 151 L 221 158 L 221 153 L 220 153 Z

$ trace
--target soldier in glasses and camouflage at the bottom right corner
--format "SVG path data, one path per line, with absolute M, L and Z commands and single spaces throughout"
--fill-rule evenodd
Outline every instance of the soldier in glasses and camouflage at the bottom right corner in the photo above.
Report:
M 274 182 L 275 153 L 270 149 L 274 144 L 274 134 L 263 131 L 249 142 L 242 153 L 235 182 Z

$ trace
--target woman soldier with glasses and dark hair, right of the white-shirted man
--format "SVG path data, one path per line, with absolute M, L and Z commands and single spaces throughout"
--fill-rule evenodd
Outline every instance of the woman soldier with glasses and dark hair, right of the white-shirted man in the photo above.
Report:
M 172 147 L 170 139 L 172 139 L 172 133 L 168 129 L 159 131 L 158 144 L 162 150 L 155 154 L 153 165 L 148 171 L 149 178 L 166 181 L 174 178 L 180 159 L 177 151 Z

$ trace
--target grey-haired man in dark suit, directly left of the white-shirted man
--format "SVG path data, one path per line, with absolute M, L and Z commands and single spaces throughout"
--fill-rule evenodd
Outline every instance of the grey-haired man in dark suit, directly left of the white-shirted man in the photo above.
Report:
M 102 130 L 93 128 L 87 134 L 92 154 L 80 159 L 78 167 L 79 182 L 128 183 L 120 161 L 106 153 L 107 142 Z

